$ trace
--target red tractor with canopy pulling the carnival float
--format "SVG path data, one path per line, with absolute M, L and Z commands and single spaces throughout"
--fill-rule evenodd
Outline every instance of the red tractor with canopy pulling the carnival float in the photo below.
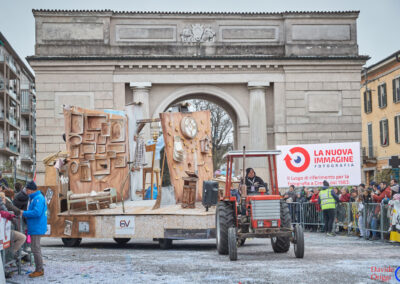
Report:
M 300 225 L 292 226 L 287 203 L 281 199 L 278 190 L 276 156 L 280 151 L 231 151 L 226 154 L 227 169 L 224 196 L 219 198 L 215 214 L 217 250 L 229 254 L 230 260 L 237 260 L 237 247 L 246 238 L 271 238 L 274 252 L 284 253 L 294 245 L 297 258 L 304 256 L 304 233 Z M 271 194 L 259 188 L 255 194 L 247 194 L 243 175 L 239 198 L 231 194 L 232 164 L 235 158 L 266 158 Z

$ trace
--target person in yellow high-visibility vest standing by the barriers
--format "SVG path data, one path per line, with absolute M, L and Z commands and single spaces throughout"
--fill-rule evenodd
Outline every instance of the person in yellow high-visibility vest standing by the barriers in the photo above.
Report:
M 333 221 L 335 220 L 336 203 L 339 203 L 339 196 L 333 189 L 329 189 L 329 183 L 324 180 L 322 190 L 319 192 L 318 203 L 321 205 L 324 215 L 324 231 L 327 236 L 335 236 L 332 232 Z

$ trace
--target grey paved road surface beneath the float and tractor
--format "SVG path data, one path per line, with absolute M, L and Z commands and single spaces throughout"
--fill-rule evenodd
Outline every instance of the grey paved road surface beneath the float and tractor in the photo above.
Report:
M 374 272 L 400 265 L 400 245 L 357 237 L 305 234 L 304 259 L 293 249 L 275 254 L 269 239 L 247 240 L 238 260 L 218 255 L 215 240 L 175 241 L 160 250 L 152 241 L 83 240 L 65 248 L 60 239 L 42 239 L 45 276 L 13 275 L 14 283 L 400 283 L 394 272 Z M 26 270 L 33 268 L 26 265 Z M 400 273 L 398 274 L 400 276 Z M 390 277 L 390 279 L 389 279 Z M 382 281 L 378 281 L 381 282 Z

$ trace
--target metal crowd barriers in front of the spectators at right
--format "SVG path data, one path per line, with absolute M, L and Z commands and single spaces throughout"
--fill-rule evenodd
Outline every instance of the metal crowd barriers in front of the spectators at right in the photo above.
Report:
M 290 202 L 288 207 L 292 224 L 300 224 L 305 229 L 323 231 L 324 218 L 318 203 Z M 387 204 L 380 203 L 366 203 L 362 208 L 359 208 L 358 202 L 339 203 L 336 206 L 333 230 L 348 235 L 357 234 L 362 230 L 364 238 L 384 240 L 390 233 L 389 210 Z

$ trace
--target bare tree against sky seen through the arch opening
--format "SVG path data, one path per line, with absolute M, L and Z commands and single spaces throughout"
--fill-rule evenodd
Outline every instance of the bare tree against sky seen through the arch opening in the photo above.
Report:
M 191 100 L 191 110 L 211 112 L 212 154 L 214 169 L 223 164 L 223 155 L 233 148 L 233 123 L 228 113 L 219 105 L 205 100 Z

